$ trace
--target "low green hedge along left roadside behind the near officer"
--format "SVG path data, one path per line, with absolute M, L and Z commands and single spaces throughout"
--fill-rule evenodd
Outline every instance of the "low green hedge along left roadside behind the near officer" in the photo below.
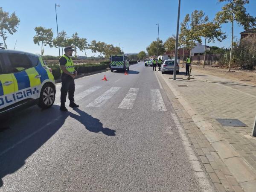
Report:
M 52 69 L 52 75 L 54 76 L 54 79 L 60 79 L 61 78 L 61 70 L 60 66 L 58 64 L 51 64 L 47 65 L 49 68 Z M 109 66 L 108 64 L 105 63 L 100 63 L 100 64 L 76 64 L 75 65 L 75 70 L 78 73 L 90 73 L 94 71 L 99 71 L 99 70 L 105 70 Z

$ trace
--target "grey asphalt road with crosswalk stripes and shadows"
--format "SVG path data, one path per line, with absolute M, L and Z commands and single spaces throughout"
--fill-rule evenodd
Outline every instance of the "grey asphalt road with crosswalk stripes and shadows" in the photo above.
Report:
M 52 108 L 13 113 L 0 132 L 0 191 L 200 191 L 154 73 L 142 62 L 128 76 L 76 79 L 80 108 L 67 113 L 57 84 Z

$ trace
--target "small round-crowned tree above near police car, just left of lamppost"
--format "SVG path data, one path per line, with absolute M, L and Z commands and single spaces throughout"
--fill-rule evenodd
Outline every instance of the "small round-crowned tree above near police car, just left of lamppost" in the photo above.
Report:
M 49 47 L 53 47 L 52 45 L 52 37 L 53 32 L 52 29 L 46 29 L 45 27 L 39 26 L 34 28 L 36 35 L 33 37 L 34 44 L 41 44 L 41 55 L 44 55 L 44 46 L 49 45 Z

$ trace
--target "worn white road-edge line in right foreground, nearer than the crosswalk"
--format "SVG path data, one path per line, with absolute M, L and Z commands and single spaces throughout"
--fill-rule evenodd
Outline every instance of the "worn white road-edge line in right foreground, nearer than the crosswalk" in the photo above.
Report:
M 191 148 L 191 143 L 189 142 L 189 140 L 185 134 L 185 131 L 183 130 L 183 127 L 180 125 L 179 119 L 177 118 L 175 113 L 172 113 L 171 116 L 172 116 L 172 120 L 175 122 L 175 125 L 178 129 L 178 133 L 180 134 L 180 138 L 182 140 L 187 157 L 189 159 L 189 163 L 192 166 L 194 175 L 198 180 L 201 191 L 202 192 L 203 191 L 214 192 L 215 190 L 212 188 L 212 186 L 210 184 L 212 182 L 205 175 L 204 169 L 202 169 L 200 161 L 198 160 L 197 156 L 195 155 L 195 151 Z

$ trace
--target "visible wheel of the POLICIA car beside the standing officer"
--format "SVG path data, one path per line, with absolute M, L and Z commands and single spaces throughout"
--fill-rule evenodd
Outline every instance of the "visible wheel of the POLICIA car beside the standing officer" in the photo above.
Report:
M 51 84 L 45 84 L 40 93 L 38 106 L 42 109 L 52 107 L 55 101 L 55 91 Z

